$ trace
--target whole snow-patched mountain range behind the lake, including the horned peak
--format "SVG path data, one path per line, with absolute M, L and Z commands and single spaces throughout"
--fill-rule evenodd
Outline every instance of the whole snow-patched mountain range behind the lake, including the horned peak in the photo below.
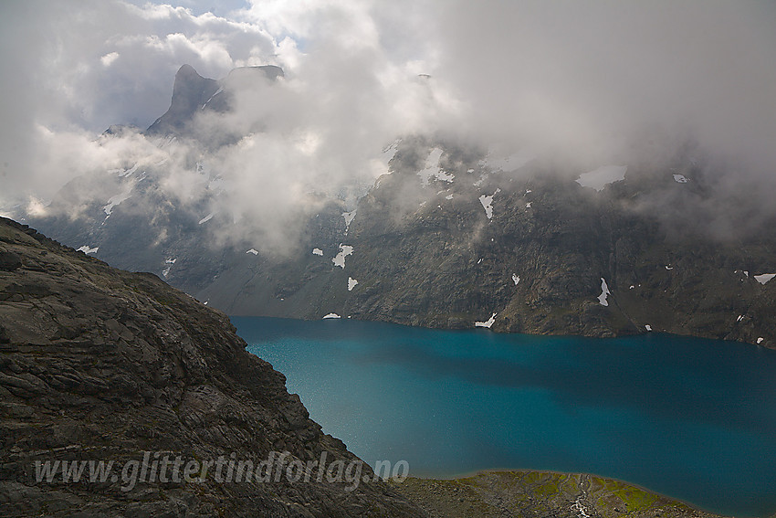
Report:
M 194 111 L 228 111 L 238 85 L 281 75 L 237 69 L 219 82 L 184 66 L 170 111 L 147 132 L 197 139 Z M 46 214 L 22 217 L 228 314 L 600 337 L 653 331 L 776 347 L 776 235 L 752 231 L 745 191 L 729 200 L 736 210 L 726 208 L 739 220 L 717 221 L 718 165 L 703 157 L 688 145 L 587 171 L 527 150 L 404 137 L 385 150 L 387 174 L 357 201 L 318 196 L 299 207 L 300 235 L 277 253 L 247 229 L 224 243 L 226 228 L 247 224 L 212 210 L 223 183 L 194 158 L 199 190 L 185 204 L 164 190 L 165 165 L 127 164 L 72 182 Z M 727 231 L 710 234 L 712 221 Z

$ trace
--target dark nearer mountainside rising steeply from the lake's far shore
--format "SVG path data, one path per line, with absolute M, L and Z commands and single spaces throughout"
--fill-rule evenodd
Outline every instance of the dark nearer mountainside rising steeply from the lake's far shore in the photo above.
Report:
M 699 169 L 677 160 L 596 192 L 540 165 L 440 151 L 403 143 L 347 226 L 309 233 L 292 259 L 236 261 L 194 294 L 230 314 L 776 346 L 776 280 L 760 276 L 776 272 L 776 239 L 705 236 L 682 213 L 709 188 Z M 424 180 L 435 153 L 439 177 Z M 655 198 L 676 218 L 634 209 Z

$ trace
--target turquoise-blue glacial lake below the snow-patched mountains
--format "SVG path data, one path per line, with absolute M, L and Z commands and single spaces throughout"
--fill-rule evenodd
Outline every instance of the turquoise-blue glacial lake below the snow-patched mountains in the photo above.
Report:
M 736 516 L 776 513 L 776 352 L 233 317 L 310 417 L 411 474 L 588 472 Z

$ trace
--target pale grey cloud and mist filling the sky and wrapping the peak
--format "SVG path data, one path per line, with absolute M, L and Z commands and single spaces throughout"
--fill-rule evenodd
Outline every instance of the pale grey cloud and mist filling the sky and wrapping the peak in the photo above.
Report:
M 275 193 L 229 201 L 237 218 L 267 222 L 259 232 L 289 227 L 309 193 L 344 190 L 352 206 L 384 172 L 380 151 L 412 134 L 527 149 L 574 177 L 603 164 L 627 164 L 634 175 L 693 149 L 708 191 L 678 217 L 707 221 L 703 231 L 724 238 L 772 217 L 772 5 L 257 2 L 215 16 L 115 1 L 81 9 L 3 6 L 2 61 L 15 71 L 2 79 L 6 213 L 45 206 L 82 174 L 158 154 L 132 132 L 97 135 L 112 124 L 152 126 L 168 106 L 168 81 L 189 63 L 214 79 L 246 66 L 285 72 L 278 88 L 241 90 L 228 112 L 203 111 L 192 128 L 199 143 L 169 152 L 190 162 L 208 142 L 211 168 L 235 193 Z M 168 174 L 171 196 L 190 196 L 188 165 Z M 664 201 L 639 208 L 664 213 Z

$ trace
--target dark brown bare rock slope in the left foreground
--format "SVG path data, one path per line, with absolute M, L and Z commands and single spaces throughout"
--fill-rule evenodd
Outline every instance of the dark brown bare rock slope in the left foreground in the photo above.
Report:
M 219 475 L 215 465 L 204 474 L 205 461 L 258 466 L 273 451 L 288 452 L 286 464 L 324 452 L 328 466 L 361 464 L 309 419 L 283 375 L 246 353 L 223 313 L 152 274 L 110 268 L 3 218 L 0 322 L 4 516 L 423 515 L 383 482 L 337 479 L 337 469 L 331 482 L 285 472 L 225 481 L 228 466 Z M 194 460 L 204 479 L 175 481 L 168 466 L 164 481 L 165 456 Z M 155 479 L 127 478 L 144 457 L 158 460 L 147 466 Z M 113 461 L 114 476 L 63 481 L 73 460 Z M 47 462 L 58 467 L 39 481 Z

